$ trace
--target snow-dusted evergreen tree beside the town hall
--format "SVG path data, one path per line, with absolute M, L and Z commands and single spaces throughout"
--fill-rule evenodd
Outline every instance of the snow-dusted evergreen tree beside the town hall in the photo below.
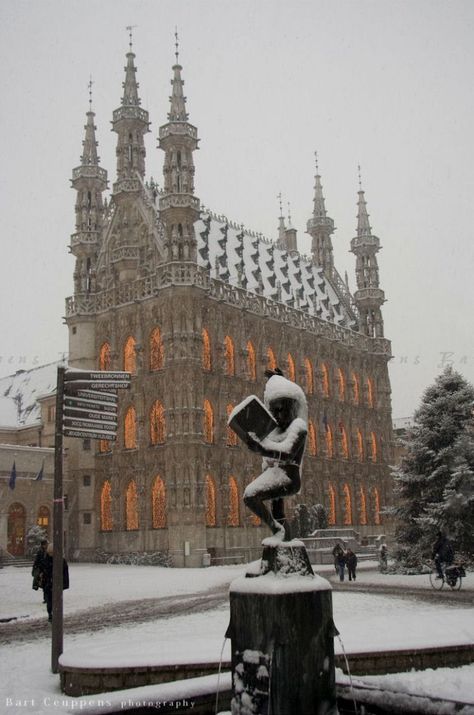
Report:
M 461 514 L 469 512 L 469 499 L 454 499 L 454 495 L 461 481 L 472 484 L 468 473 L 474 463 L 468 454 L 473 445 L 473 411 L 474 387 L 447 367 L 425 391 L 415 413 L 407 454 L 394 472 L 396 506 L 390 510 L 396 518 L 399 558 L 406 565 L 429 555 L 439 529 L 448 533 L 455 548 L 466 542 L 459 522 Z M 464 461 L 460 462 L 461 444 Z

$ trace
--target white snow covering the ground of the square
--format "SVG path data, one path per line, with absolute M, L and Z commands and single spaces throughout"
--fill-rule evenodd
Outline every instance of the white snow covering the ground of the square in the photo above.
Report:
M 361 566 L 358 584 L 383 583 L 430 589 L 427 576 L 388 576 L 370 568 L 371 564 Z M 207 591 L 230 583 L 242 572 L 242 566 L 164 569 L 71 564 L 71 588 L 64 593 L 64 610 L 68 615 L 104 605 L 112 609 L 120 601 Z M 332 573 L 330 568 L 326 572 Z M 473 586 L 474 574 L 468 574 L 463 592 L 467 590 L 474 597 Z M 31 589 L 29 569 L 8 567 L 0 570 L 0 618 L 45 619 L 45 607 L 41 601 L 41 592 Z M 443 591 L 438 602 L 427 603 L 375 593 L 351 592 L 351 584 L 345 583 L 344 591 L 333 593 L 333 609 L 334 620 L 349 654 L 361 650 L 474 643 L 474 610 L 462 604 L 456 606 L 456 593 Z M 188 616 L 161 618 L 95 633 L 71 635 L 66 629 L 63 662 L 76 665 L 138 665 L 191 659 L 218 660 L 224 646 L 228 619 L 228 606 L 223 605 Z M 0 640 L 1 628 L 0 623 Z M 340 651 L 338 640 L 335 645 L 336 651 Z M 224 646 L 224 657 L 230 657 L 228 641 Z M 58 676 L 50 672 L 50 660 L 47 638 L 2 648 L 1 713 L 61 714 L 79 711 L 85 701 L 93 700 L 90 697 L 76 699 L 62 695 Z M 474 665 L 371 676 L 363 680 L 389 689 L 474 704 Z M 159 686 L 138 689 L 133 697 L 149 697 L 156 687 Z M 106 710 L 103 709 L 103 712 Z

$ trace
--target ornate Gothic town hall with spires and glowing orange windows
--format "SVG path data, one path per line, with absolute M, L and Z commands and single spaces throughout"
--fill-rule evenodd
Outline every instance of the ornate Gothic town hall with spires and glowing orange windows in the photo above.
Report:
M 147 179 L 149 115 L 136 75 L 130 46 L 112 118 L 111 195 L 105 198 L 108 174 L 99 164 L 91 107 L 72 174 L 69 364 L 129 370 L 132 387 L 119 394 L 115 442 L 66 440 L 71 556 L 163 552 L 176 566 L 199 566 L 206 553 L 256 558 L 268 533 L 242 494 L 260 473 L 260 460 L 237 442 L 227 415 L 245 396 L 262 396 L 264 371 L 275 366 L 302 386 L 309 407 L 303 486 L 290 516 L 297 503 L 323 504 L 330 525 L 384 533 L 391 353 L 380 242 L 364 191 L 359 187 L 350 242 L 357 280 L 351 295 L 334 266 L 334 222 L 317 169 L 309 258 L 298 252 L 296 230 L 282 216 L 268 240 L 201 205 L 198 130 L 189 121 L 178 55 L 159 129 L 163 180 L 158 186 Z

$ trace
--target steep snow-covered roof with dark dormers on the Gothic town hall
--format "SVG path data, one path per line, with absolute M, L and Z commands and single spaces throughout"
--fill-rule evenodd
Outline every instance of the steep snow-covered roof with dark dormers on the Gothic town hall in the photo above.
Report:
M 198 265 L 217 278 L 259 293 L 336 325 L 353 327 L 353 317 L 320 266 L 288 253 L 225 216 L 205 211 L 195 223 Z

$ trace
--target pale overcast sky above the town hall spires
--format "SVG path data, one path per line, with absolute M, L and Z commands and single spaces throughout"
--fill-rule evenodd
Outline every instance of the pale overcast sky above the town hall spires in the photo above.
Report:
M 474 381 L 471 0 L 0 0 L 0 375 L 67 350 L 87 84 L 111 184 L 130 24 L 147 175 L 161 183 L 177 25 L 202 202 L 275 238 L 281 191 L 309 252 L 318 150 L 336 266 L 354 290 L 360 163 L 383 246 L 393 416 L 413 412 L 448 360 Z

